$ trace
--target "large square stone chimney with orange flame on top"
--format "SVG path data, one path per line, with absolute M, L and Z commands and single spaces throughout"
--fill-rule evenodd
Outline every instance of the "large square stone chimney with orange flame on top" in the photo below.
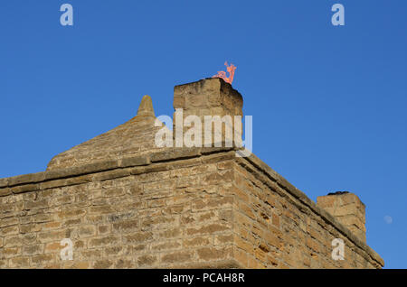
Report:
M 191 121 L 194 117 L 191 116 L 197 116 L 201 121 L 202 146 L 232 146 L 235 144 L 233 141 L 236 138 L 233 138 L 233 134 L 236 133 L 235 128 L 240 128 L 241 131 L 242 106 L 243 98 L 241 94 L 223 79 L 201 79 L 193 83 L 175 86 L 175 114 L 173 117 L 175 146 L 179 146 L 176 143 L 176 137 L 182 136 L 181 131 L 185 134 L 188 129 L 196 127 L 194 125 L 196 124 L 195 121 Z M 182 116 L 180 114 L 181 109 Z M 206 125 L 206 129 L 210 128 L 211 130 L 206 133 L 205 116 L 213 116 L 213 122 Z M 219 117 L 216 119 L 214 116 Z M 218 121 L 218 125 L 222 125 L 222 131 L 217 130 L 219 133 L 214 132 L 216 126 L 214 122 L 216 121 Z M 181 125 L 181 129 L 176 129 L 176 126 L 180 127 Z M 231 130 L 232 137 L 230 135 Z M 241 139 L 241 133 L 236 134 Z M 229 142 L 229 145 L 225 142 Z

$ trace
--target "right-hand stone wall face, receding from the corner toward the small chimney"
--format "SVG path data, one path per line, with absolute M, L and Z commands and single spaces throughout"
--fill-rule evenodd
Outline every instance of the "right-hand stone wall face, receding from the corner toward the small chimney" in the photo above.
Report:
M 235 171 L 235 257 L 244 267 L 383 266 L 383 259 L 359 234 L 353 234 L 254 155 L 238 159 Z M 345 243 L 345 260 L 334 260 L 331 255 L 335 238 Z

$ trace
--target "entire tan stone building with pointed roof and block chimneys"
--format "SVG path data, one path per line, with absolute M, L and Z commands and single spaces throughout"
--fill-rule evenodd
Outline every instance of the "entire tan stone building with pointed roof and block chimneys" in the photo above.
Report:
M 241 116 L 242 97 L 203 79 L 176 86 L 174 107 Z M 354 194 L 316 204 L 254 154 L 158 148 L 155 121 L 144 97 L 137 116 L 46 171 L 0 179 L 0 268 L 383 267 Z M 335 238 L 344 260 L 332 257 Z

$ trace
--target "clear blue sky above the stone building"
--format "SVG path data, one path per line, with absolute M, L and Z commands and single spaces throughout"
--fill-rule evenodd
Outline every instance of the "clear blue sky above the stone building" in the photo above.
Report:
M 175 85 L 228 60 L 253 152 L 311 199 L 355 192 L 368 245 L 407 267 L 407 1 L 2 0 L 0 36 L 0 177 L 45 170 L 143 95 L 171 116 Z

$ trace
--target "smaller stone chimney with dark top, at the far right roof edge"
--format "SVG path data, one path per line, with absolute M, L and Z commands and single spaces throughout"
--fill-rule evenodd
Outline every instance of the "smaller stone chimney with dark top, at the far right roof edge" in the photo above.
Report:
M 366 242 L 365 206 L 354 194 L 337 191 L 317 198 L 317 205 L 333 215 L 340 223 Z

